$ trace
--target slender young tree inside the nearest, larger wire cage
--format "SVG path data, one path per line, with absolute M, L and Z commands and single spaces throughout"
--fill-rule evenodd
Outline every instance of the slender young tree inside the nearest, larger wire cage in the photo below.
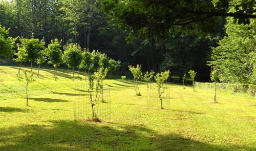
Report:
M 94 80 L 96 82 L 96 86 L 94 87 Z M 89 100 L 92 107 L 92 118 L 96 119 L 96 115 L 94 113 L 94 106 L 99 102 L 99 98 L 101 95 L 101 88 L 102 84 L 100 82 L 100 79 L 97 76 L 90 76 L 89 77 Z

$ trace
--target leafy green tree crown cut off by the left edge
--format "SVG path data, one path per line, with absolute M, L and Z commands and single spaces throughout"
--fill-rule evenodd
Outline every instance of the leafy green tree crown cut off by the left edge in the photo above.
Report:
M 15 39 L 8 35 L 8 29 L 0 25 L 0 57 L 11 57 L 14 54 Z

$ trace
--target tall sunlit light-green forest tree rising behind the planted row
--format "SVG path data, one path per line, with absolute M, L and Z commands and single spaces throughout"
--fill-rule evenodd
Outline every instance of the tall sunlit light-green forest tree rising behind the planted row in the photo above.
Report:
M 79 36 L 83 36 L 83 45 L 89 49 L 90 33 L 94 25 L 101 23 L 103 13 L 100 11 L 99 0 L 63 0 L 61 10 L 70 21 L 71 33 L 75 37 L 74 42 L 79 42 Z

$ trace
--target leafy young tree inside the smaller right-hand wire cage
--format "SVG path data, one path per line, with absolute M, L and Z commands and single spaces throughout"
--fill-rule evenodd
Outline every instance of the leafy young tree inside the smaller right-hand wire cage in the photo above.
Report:
M 164 89 L 164 81 L 166 81 L 169 77 L 169 70 L 165 71 L 165 72 L 161 72 L 161 73 L 157 73 L 155 76 L 155 80 L 157 83 L 157 90 L 158 90 L 158 96 L 160 99 L 160 109 L 163 109 L 163 98 L 162 98 L 162 94 L 164 93 L 163 89 Z M 168 76 L 167 76 L 168 75 Z

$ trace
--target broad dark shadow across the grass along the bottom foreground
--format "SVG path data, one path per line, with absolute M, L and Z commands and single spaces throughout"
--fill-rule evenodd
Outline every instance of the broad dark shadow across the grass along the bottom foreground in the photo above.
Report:
M 45 121 L 46 124 L 0 128 L 0 150 L 253 150 L 255 147 L 214 145 L 161 135 L 144 125 Z M 50 123 L 50 124 L 49 124 Z M 49 125 L 48 125 L 49 124 Z M 113 128 L 115 127 L 115 128 Z

